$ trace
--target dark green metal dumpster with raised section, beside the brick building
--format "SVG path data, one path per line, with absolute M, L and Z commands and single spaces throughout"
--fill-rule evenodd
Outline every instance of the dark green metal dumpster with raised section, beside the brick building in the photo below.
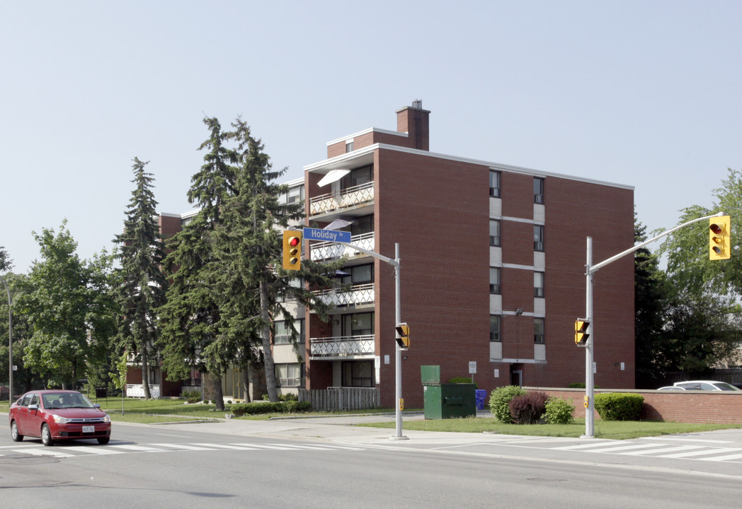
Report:
M 440 366 L 420 366 L 425 419 L 476 416 L 476 385 L 441 384 Z

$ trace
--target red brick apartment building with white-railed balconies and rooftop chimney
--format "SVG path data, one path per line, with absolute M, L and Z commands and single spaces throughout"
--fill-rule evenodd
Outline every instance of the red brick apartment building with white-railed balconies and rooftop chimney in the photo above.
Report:
M 584 382 L 574 320 L 585 314 L 585 239 L 594 263 L 634 244 L 634 188 L 433 153 L 430 111 L 414 102 L 396 113 L 396 131 L 329 142 L 328 159 L 304 167 L 304 187 L 309 226 L 342 219 L 352 244 L 392 259 L 400 245 L 405 406 L 423 406 L 421 365 L 440 365 L 447 381 L 470 376 L 474 361 L 487 392 Z M 393 407 L 393 267 L 341 244 L 305 249 L 348 256 L 353 285 L 326 293 L 329 323 L 307 314 L 306 387 L 379 387 Z M 633 388 L 633 257 L 595 274 L 593 318 L 595 384 Z

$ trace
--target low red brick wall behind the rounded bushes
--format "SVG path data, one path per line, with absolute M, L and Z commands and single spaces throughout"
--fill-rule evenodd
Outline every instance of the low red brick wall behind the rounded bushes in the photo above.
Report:
M 585 389 L 554 389 L 523 387 L 540 390 L 549 396 L 571 400 L 574 416 L 584 417 Z M 635 393 L 644 397 L 642 419 L 664 422 L 733 422 L 742 424 L 742 391 L 726 390 L 595 390 L 595 393 Z M 597 412 L 595 419 L 600 419 Z

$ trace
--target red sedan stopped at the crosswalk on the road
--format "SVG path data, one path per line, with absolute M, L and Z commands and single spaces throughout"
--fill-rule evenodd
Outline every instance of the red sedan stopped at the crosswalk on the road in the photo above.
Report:
M 10 405 L 10 436 L 42 439 L 44 445 L 57 440 L 97 439 L 108 444 L 111 417 L 76 390 L 31 390 Z

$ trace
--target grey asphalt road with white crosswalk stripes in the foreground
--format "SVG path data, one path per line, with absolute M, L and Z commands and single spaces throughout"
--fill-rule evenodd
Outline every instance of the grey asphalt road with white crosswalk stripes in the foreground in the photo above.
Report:
M 12 442 L 7 430 L 0 507 L 718 508 L 742 494 L 740 433 L 631 441 L 391 434 L 342 419 L 114 423 L 108 445 L 44 448 Z

